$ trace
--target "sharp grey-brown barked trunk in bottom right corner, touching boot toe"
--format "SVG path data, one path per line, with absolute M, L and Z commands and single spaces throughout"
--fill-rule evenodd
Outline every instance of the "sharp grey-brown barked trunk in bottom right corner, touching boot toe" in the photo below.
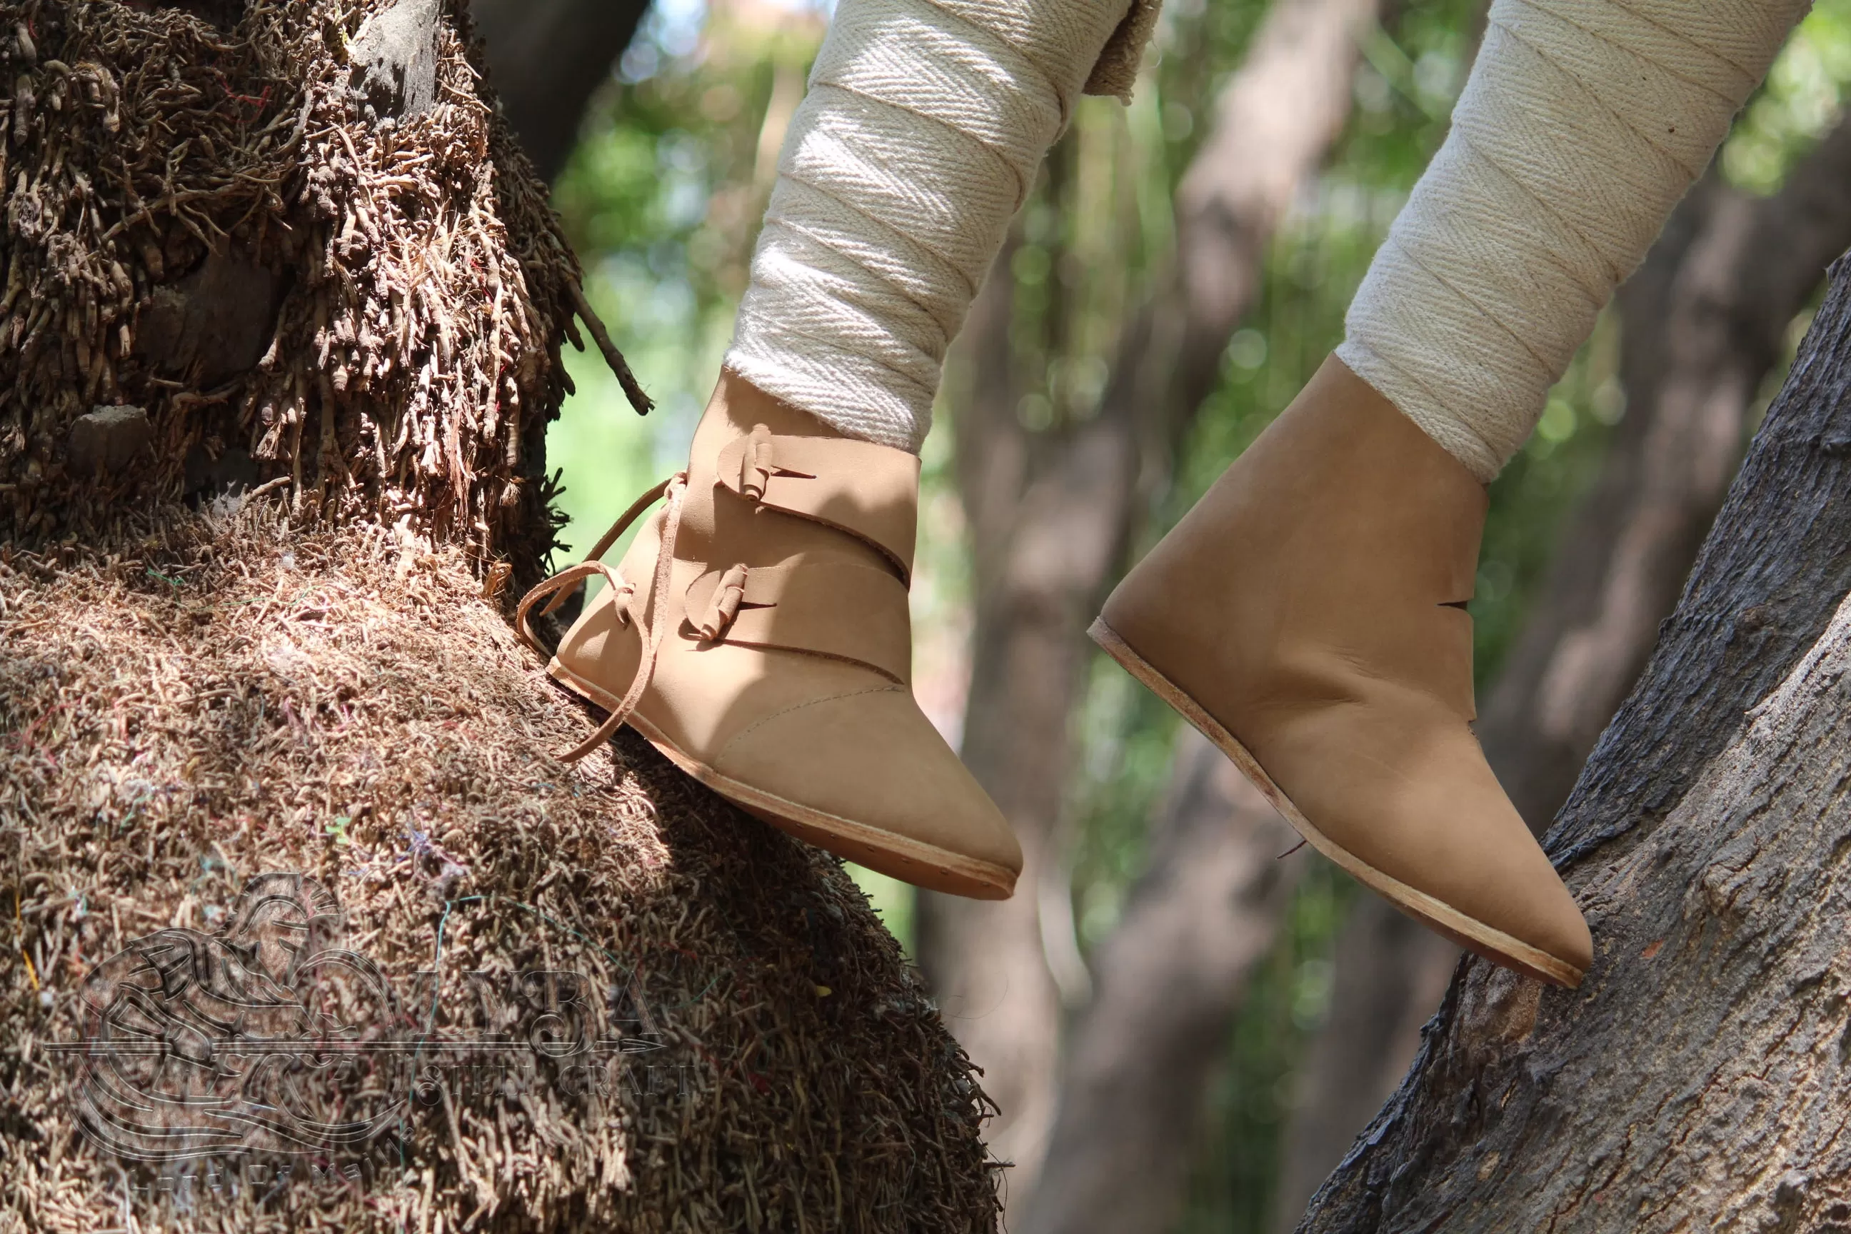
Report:
M 1546 847 L 1588 914 L 1577 992 L 1483 962 L 1303 1230 L 1851 1221 L 1844 805 L 1851 294 L 1786 389 Z

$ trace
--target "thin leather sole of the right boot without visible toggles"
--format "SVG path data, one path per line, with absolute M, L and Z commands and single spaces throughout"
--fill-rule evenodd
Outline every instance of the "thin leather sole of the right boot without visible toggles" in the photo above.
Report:
M 1214 742 L 1214 746 L 1227 755 L 1236 768 L 1240 768 L 1240 773 L 1253 781 L 1255 788 L 1266 794 L 1266 799 L 1273 803 L 1273 808 L 1279 810 L 1288 823 L 1292 823 L 1292 829 L 1305 836 L 1311 847 L 1342 866 L 1353 879 L 1383 895 L 1388 903 L 1416 921 L 1422 921 L 1438 934 L 1444 934 L 1466 951 L 1485 956 L 1492 964 L 1501 964 L 1503 968 L 1512 968 L 1520 973 L 1527 973 L 1570 990 L 1581 984 L 1581 979 L 1586 973 L 1573 964 L 1559 960 L 1540 947 L 1531 947 L 1523 940 L 1505 934 L 1492 925 L 1485 925 L 1475 918 L 1468 918 L 1451 905 L 1435 899 L 1433 895 L 1427 895 L 1425 892 L 1412 888 L 1381 870 L 1375 870 L 1366 860 L 1325 836 L 1299 812 L 1296 805 L 1292 805 L 1292 799 L 1281 792 L 1279 784 L 1266 775 L 1266 768 L 1262 768 L 1259 760 L 1248 753 L 1248 747 L 1242 746 L 1233 733 L 1224 729 L 1214 716 L 1203 710 L 1203 707 L 1185 694 L 1174 681 L 1151 668 L 1142 655 L 1133 651 L 1131 644 L 1127 644 L 1118 631 L 1105 623 L 1103 616 L 1094 618 L 1087 635 L 1099 644 L 1109 657 L 1118 660 L 1127 673 L 1144 683 L 1157 697 L 1174 707 L 1177 714 Z

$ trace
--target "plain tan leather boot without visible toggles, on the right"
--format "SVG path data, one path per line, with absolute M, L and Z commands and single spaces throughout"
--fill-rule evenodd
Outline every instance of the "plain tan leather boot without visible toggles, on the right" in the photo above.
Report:
M 1470 729 L 1485 507 L 1333 357 L 1090 633 L 1325 857 L 1485 958 L 1575 986 L 1586 921 Z

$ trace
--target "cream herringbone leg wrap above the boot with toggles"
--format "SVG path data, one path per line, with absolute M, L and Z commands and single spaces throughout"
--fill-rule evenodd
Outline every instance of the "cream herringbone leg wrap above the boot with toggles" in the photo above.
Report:
M 918 451 L 946 346 L 1131 0 L 840 0 L 726 366 Z

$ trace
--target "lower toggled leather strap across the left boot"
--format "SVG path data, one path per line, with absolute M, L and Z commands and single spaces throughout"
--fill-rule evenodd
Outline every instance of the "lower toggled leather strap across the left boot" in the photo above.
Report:
M 913 622 L 900 579 L 839 557 L 709 570 L 689 585 L 683 638 L 807 651 L 913 679 Z

